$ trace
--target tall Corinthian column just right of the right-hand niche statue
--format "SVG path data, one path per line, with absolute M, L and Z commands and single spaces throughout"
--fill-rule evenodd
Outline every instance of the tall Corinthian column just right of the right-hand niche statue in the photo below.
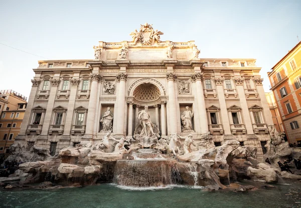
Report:
M 202 122 L 200 124 L 201 133 L 206 134 L 208 132 L 208 121 L 207 121 L 207 112 L 206 112 L 204 91 L 202 85 L 202 75 L 203 73 L 197 72 L 193 75 L 193 78 L 195 78 L 196 80 L 198 110 L 199 110 L 200 118 L 202 119 Z

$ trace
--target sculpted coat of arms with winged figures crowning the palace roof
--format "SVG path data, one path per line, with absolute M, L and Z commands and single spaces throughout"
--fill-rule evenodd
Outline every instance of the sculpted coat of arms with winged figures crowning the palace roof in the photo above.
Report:
M 132 37 L 133 45 L 141 43 L 142 45 L 154 45 L 156 42 L 160 43 L 160 35 L 164 33 L 158 30 L 154 30 L 153 25 L 145 23 L 140 25 L 140 30 L 135 29 L 134 32 L 131 32 L 129 35 Z

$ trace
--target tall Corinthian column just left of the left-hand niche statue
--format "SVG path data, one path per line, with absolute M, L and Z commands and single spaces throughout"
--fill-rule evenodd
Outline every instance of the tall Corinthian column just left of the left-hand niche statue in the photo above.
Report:
M 97 85 L 98 85 L 98 81 L 102 80 L 102 76 L 99 73 L 91 73 L 90 80 L 92 81 L 92 84 L 91 84 L 89 109 L 88 109 L 87 122 L 86 122 L 86 133 L 82 137 L 83 139 L 93 138 L 94 117 L 95 117 L 96 100 L 97 100 Z

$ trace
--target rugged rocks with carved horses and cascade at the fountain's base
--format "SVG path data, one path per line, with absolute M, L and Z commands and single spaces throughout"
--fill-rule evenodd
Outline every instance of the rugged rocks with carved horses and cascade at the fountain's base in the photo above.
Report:
M 255 158 L 256 148 L 240 146 L 236 140 L 227 140 L 215 147 L 210 134 L 205 136 L 197 151 L 191 151 L 193 140 L 189 137 L 183 147 L 179 146 L 177 134 L 171 135 L 167 141 L 159 141 L 153 145 L 154 149 L 139 149 L 134 142 L 130 144 L 124 139 L 114 139 L 111 143 L 109 138 L 110 133 L 99 144 L 63 148 L 54 157 L 39 147 L 15 145 L 15 154 L 9 159 L 19 158 L 24 163 L 19 165 L 14 175 L 0 178 L 0 184 L 15 187 L 16 184 L 50 181 L 63 186 L 83 186 L 114 182 L 134 187 L 185 184 L 216 190 L 230 187 L 231 181 L 242 179 L 261 182 L 301 179 L 300 175 L 281 172 L 275 165 L 277 160 L 283 162 L 291 156 L 301 157 L 300 152 L 275 138 L 267 144 L 269 148 L 265 155 L 271 164 L 258 161 Z M 19 152 L 18 148 L 19 151 L 28 151 Z M 240 189 L 251 188 L 240 187 L 237 190 Z

